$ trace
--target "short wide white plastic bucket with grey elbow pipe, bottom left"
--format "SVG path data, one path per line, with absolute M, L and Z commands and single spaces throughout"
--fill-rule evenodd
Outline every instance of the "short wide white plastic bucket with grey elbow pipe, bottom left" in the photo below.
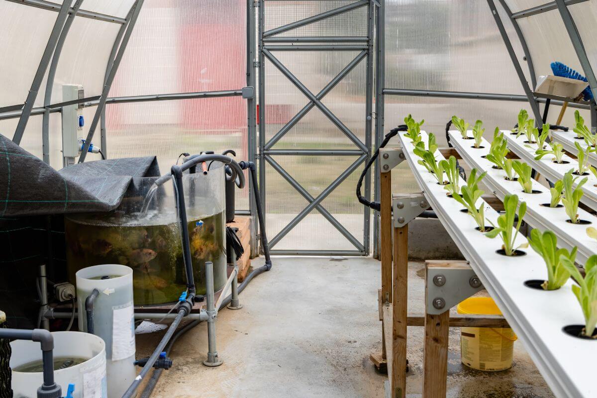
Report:
M 107 398 L 106 350 L 101 338 L 83 332 L 53 332 L 54 359 L 85 358 L 79 365 L 54 371 L 54 381 L 66 395 L 69 384 L 75 384 L 74 398 Z M 35 341 L 15 340 L 10 367 L 13 368 L 15 398 L 35 398 L 44 377 L 42 372 L 16 372 L 26 363 L 41 360 L 41 347 Z

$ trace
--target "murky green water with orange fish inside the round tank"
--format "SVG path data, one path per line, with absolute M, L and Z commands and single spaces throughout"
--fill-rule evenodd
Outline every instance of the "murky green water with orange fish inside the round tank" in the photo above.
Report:
M 190 217 L 190 253 L 198 294 L 205 294 L 205 262 L 214 264 L 214 287 L 226 283 L 225 212 Z M 186 290 L 186 273 L 174 209 L 144 214 L 112 211 L 67 215 L 66 259 L 70 282 L 76 271 L 99 264 L 122 264 L 133 269 L 137 306 L 173 303 Z

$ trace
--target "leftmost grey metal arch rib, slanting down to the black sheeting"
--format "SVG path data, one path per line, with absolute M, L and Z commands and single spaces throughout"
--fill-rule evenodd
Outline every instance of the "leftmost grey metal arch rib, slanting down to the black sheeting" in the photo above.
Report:
M 44 54 L 41 57 L 41 61 L 39 61 L 38 69 L 33 77 L 33 82 L 31 84 L 31 88 L 29 89 L 29 94 L 27 94 L 27 99 L 25 100 L 25 104 L 23 106 L 23 112 L 21 113 L 21 117 L 19 119 L 19 124 L 17 124 L 17 129 L 14 131 L 13 141 L 17 145 L 21 143 L 21 138 L 23 138 L 25 128 L 27 127 L 27 122 L 29 122 L 29 116 L 33 110 L 33 103 L 35 103 L 35 98 L 37 98 L 39 87 L 41 87 L 41 83 L 44 80 L 45 72 L 48 69 L 52 54 L 54 53 L 54 48 L 56 48 L 56 44 L 60 39 L 60 33 L 64 27 L 64 21 L 66 21 L 66 17 L 69 15 L 70 2 L 70 0 L 63 0 L 62 2 L 60 12 L 56 17 L 54 27 L 50 33 L 50 38 L 45 45 Z

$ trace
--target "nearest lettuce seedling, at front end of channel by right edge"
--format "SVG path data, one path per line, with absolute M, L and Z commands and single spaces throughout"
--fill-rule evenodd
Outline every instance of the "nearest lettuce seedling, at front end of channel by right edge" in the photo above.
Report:
M 572 291 L 583 310 L 583 335 L 593 337 L 595 326 L 597 326 L 597 255 L 593 254 L 584 263 L 584 278 L 574 265 L 574 261 L 570 261 L 563 255 L 560 257 L 560 261 L 578 283 L 578 285 L 572 285 Z

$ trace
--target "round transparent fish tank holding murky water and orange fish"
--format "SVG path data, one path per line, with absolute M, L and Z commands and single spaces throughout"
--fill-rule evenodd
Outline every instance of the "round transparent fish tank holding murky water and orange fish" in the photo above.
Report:
M 207 174 L 183 175 L 187 229 L 197 294 L 205 294 L 205 262 L 214 264 L 214 288 L 226 273 L 224 168 L 213 162 Z M 172 177 L 134 178 L 111 212 L 66 215 L 69 280 L 99 264 L 133 269 L 136 306 L 173 303 L 186 291 L 180 224 Z

